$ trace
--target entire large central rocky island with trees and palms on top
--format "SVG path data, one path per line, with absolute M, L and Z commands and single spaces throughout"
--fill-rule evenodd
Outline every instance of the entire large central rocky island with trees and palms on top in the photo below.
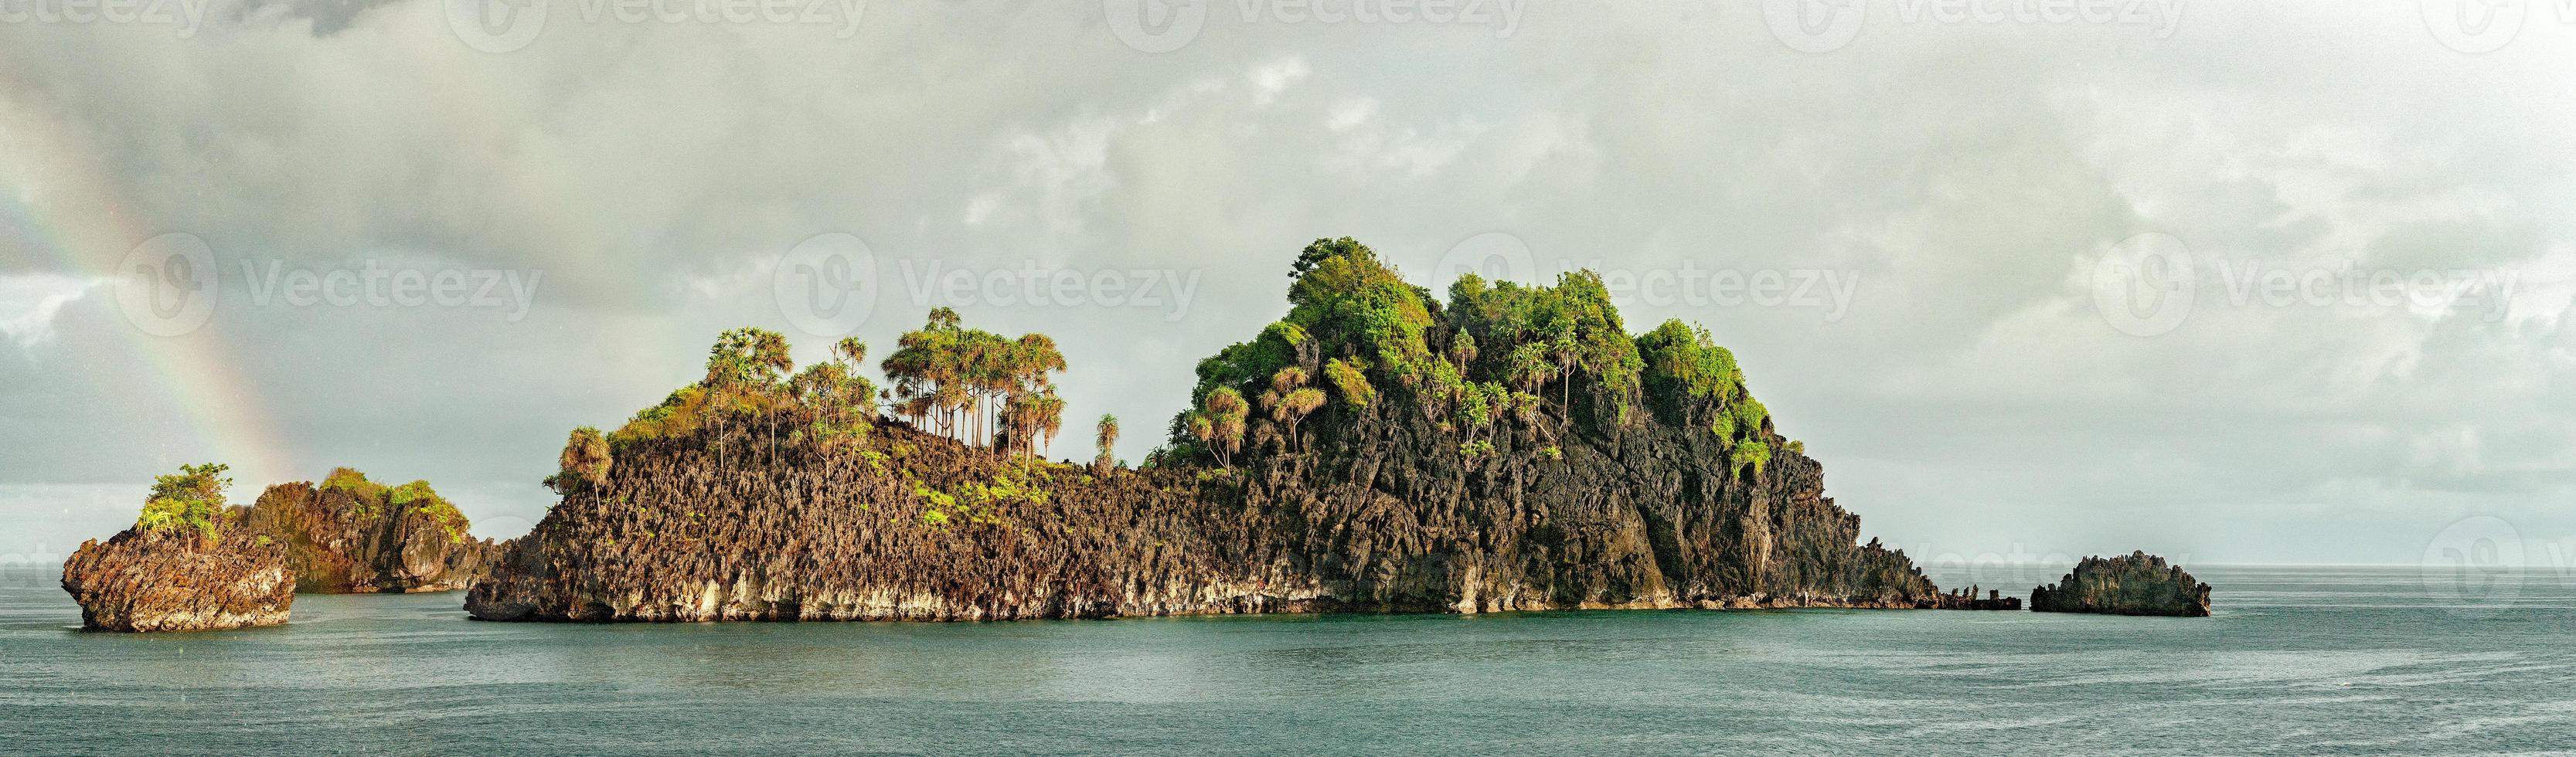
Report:
M 1043 335 L 948 309 L 881 368 L 734 330 L 706 376 L 574 430 L 484 621 L 1002 621 L 1556 608 L 1968 608 L 1860 543 L 1705 330 L 1631 335 L 1592 273 L 1435 299 L 1352 239 L 1198 363 L 1141 463 L 1043 461 Z M 1103 448 L 1118 425 L 1095 427 Z

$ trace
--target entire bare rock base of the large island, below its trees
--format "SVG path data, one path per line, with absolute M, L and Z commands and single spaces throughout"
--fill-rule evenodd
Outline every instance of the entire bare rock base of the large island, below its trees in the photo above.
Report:
M 884 425 L 842 451 L 734 438 L 618 453 L 507 546 L 487 621 L 1007 621 L 1556 608 L 1945 608 L 1857 546 L 1821 469 L 1726 471 L 1638 425 L 1466 463 L 1368 445 L 1092 476 Z M 1368 438 L 1365 433 L 1360 438 Z M 721 458 L 719 458 L 721 456 Z

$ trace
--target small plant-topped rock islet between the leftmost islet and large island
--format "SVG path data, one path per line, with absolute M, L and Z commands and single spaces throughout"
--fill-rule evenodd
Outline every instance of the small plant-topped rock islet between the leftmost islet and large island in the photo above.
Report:
M 286 546 L 299 592 L 453 592 L 500 556 L 469 536 L 464 512 L 425 481 L 384 487 L 337 469 L 319 487 L 260 492 L 247 525 Z

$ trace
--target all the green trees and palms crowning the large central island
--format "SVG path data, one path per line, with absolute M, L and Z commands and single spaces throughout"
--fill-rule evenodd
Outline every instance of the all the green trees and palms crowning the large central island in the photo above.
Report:
M 1775 438 L 1770 409 L 1705 327 L 1667 319 L 1631 337 L 1592 270 L 1553 286 L 1466 273 L 1443 301 L 1342 237 L 1306 245 L 1288 276 L 1288 314 L 1195 366 L 1190 404 L 1172 415 L 1146 466 L 1231 469 L 1247 456 L 1309 453 L 1314 435 L 1342 433 L 1383 402 L 1453 435 L 1468 461 L 1494 456 L 1504 433 L 1530 433 L 1538 443 L 1525 451 L 1564 458 L 1569 435 L 1633 425 L 1641 409 L 1705 427 L 1728 466 L 1749 474 L 1780 445 L 1798 448 Z M 863 443 L 891 417 L 1036 458 L 1064 427 L 1054 378 L 1066 360 L 1048 335 L 1005 337 L 940 306 L 896 337 L 878 366 L 886 386 L 860 376 L 866 358 L 863 340 L 842 337 L 827 360 L 796 371 L 783 335 L 729 330 L 708 348 L 698 384 L 613 433 L 574 430 L 546 484 L 567 494 L 598 487 L 618 451 L 701 433 L 719 456 L 734 451 L 732 440 L 775 458 L 781 443 Z M 1118 420 L 1103 417 L 1095 474 L 1115 469 L 1115 440 Z

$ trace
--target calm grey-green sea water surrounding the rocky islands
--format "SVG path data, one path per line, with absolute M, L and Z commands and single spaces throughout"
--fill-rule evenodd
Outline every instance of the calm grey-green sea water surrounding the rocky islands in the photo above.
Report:
M 2215 618 L 1525 613 L 77 633 L 0 582 L 10 754 L 2566 754 L 2576 592 L 2202 566 Z

